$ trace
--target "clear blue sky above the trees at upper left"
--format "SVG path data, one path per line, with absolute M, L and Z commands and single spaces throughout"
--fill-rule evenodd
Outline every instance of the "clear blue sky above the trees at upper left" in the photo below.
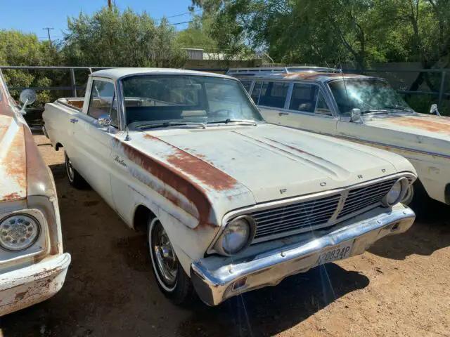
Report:
M 113 0 L 124 10 L 131 7 L 134 11 L 147 11 L 155 19 L 188 12 L 191 0 Z M 22 32 L 37 34 L 39 39 L 47 39 L 43 27 L 53 27 L 52 39 L 62 37 L 61 30 L 67 27 L 68 16 L 77 16 L 80 11 L 93 13 L 108 0 L 0 0 L 0 29 L 18 29 Z M 171 23 L 189 21 L 191 15 L 178 15 L 169 18 Z M 177 29 L 187 24 L 176 25 Z

